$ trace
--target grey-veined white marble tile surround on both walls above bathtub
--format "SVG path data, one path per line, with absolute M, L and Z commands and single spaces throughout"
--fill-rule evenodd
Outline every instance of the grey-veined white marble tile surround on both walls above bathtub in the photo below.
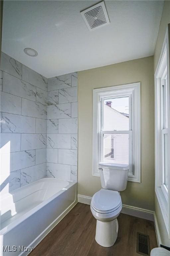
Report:
M 77 73 L 46 79 L 2 53 L 0 78 L 1 191 L 77 181 Z

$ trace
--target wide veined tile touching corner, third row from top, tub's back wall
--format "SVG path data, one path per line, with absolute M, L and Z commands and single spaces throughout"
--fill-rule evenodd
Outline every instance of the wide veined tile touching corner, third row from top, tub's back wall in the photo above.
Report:
M 71 118 L 71 103 L 47 106 L 47 119 Z

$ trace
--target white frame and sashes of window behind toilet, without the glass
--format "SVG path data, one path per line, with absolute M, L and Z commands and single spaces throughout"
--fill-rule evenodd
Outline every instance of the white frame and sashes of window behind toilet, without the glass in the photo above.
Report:
M 129 139 L 132 140 L 132 168 L 128 173 L 128 181 L 141 182 L 141 163 L 140 163 L 140 82 L 117 85 L 112 87 L 105 87 L 100 89 L 93 89 L 93 176 L 100 177 L 99 172 L 99 159 L 100 159 L 100 136 L 103 136 L 103 132 L 100 132 L 101 126 L 101 101 L 103 98 L 122 97 L 130 95 L 132 123 L 131 130 L 129 131 L 108 131 L 107 133 L 128 133 Z M 130 127 L 130 126 L 129 126 Z M 104 132 L 106 133 L 106 132 Z M 130 145 L 130 143 L 129 143 Z

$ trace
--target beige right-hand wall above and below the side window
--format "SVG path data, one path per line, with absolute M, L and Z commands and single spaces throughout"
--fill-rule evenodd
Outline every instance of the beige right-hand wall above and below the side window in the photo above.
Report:
M 170 1 L 165 1 L 164 8 L 162 11 L 162 18 L 161 18 L 161 22 L 160 22 L 158 37 L 157 37 L 157 41 L 156 41 L 155 52 L 154 52 L 154 72 L 156 70 L 156 67 L 157 67 L 157 64 L 159 61 L 159 57 L 160 57 L 160 53 L 162 50 L 162 45 L 163 45 L 165 32 L 166 32 L 168 23 L 170 23 Z M 156 214 L 156 218 L 158 221 L 158 227 L 159 227 L 162 244 L 170 246 L 170 240 L 168 238 L 168 233 L 166 230 L 166 226 L 165 226 L 165 223 L 163 220 L 163 216 L 162 216 L 161 209 L 159 207 L 159 203 L 158 203 L 156 195 L 155 195 L 155 214 Z

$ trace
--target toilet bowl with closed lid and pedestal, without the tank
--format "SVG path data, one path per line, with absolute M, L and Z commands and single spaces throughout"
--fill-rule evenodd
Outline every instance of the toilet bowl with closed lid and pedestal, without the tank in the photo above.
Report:
M 122 210 L 122 200 L 119 192 L 101 189 L 96 192 L 90 205 L 96 223 L 96 237 L 98 244 L 104 247 L 114 245 L 118 236 L 118 221 Z

